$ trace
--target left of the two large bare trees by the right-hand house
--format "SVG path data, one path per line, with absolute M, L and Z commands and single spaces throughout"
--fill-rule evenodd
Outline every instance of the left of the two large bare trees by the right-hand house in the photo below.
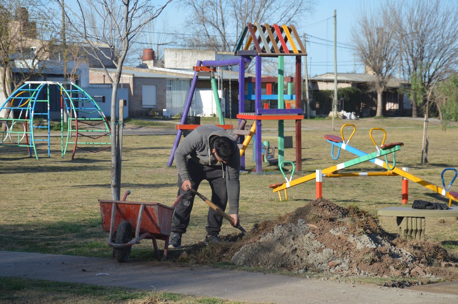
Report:
M 398 56 L 396 33 L 387 11 L 387 8 L 362 11 L 352 31 L 356 55 L 374 75 L 374 81 L 367 84 L 369 91 L 377 93 L 376 116 L 383 115 L 382 93 L 393 77 Z

